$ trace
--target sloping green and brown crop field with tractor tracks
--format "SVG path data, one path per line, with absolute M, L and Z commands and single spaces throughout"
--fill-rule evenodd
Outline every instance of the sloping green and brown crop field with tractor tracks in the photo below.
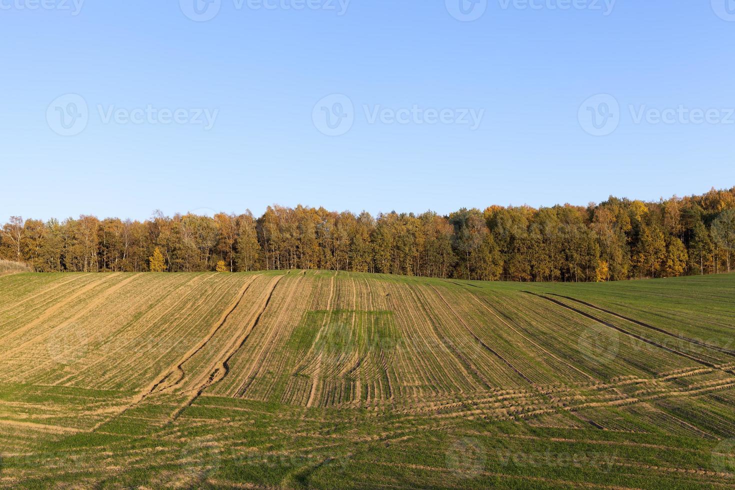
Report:
M 735 275 L 0 277 L 0 486 L 735 486 Z

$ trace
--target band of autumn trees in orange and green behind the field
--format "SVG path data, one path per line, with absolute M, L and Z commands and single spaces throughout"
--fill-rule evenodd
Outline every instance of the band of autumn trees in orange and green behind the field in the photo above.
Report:
M 610 281 L 729 271 L 735 187 L 655 203 L 491 206 L 448 216 L 270 206 L 254 217 L 11 217 L 0 258 L 39 272 L 326 269 L 507 281 Z M 162 257 L 162 259 L 161 259 Z

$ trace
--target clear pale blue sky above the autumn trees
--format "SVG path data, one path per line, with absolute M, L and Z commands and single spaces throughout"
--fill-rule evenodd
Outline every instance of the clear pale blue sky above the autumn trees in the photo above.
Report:
M 0 0 L 0 38 L 0 220 L 735 185 L 733 0 Z

